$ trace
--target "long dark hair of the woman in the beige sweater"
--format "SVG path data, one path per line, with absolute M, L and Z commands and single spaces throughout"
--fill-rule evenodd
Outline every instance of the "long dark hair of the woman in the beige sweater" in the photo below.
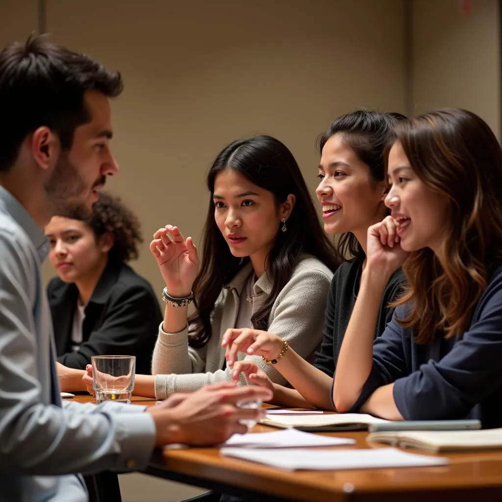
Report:
M 268 328 L 272 306 L 291 279 L 302 253 L 316 257 L 333 272 L 341 262 L 341 257 L 321 227 L 300 168 L 288 148 L 270 136 L 255 136 L 230 143 L 218 154 L 207 175 L 211 198 L 204 226 L 200 272 L 192 288 L 196 307 L 196 313 L 189 319 L 195 325 L 195 332 L 189 336 L 192 347 L 202 347 L 208 342 L 212 335 L 211 312 L 222 287 L 249 262 L 248 257 L 236 258 L 230 253 L 214 220 L 214 181 L 226 169 L 232 169 L 255 185 L 272 192 L 278 205 L 290 193 L 296 197 L 288 218 L 288 230 L 282 232 L 277 226 L 277 237 L 267 260 L 272 291 L 251 318 L 256 329 Z

